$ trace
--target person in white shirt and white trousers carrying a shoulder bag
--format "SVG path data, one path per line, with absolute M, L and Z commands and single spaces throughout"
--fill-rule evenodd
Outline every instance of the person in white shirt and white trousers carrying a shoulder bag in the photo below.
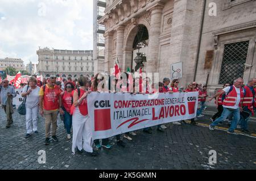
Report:
M 39 91 L 40 87 L 36 86 L 38 81 L 35 77 L 30 77 L 30 85 L 24 86 L 22 97 L 26 98 L 26 128 L 25 137 L 30 137 L 32 133 L 38 134 L 38 110 L 39 110 Z

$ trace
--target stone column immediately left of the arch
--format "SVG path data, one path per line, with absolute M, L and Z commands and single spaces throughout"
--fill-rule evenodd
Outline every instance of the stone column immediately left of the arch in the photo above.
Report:
M 123 36 L 124 36 L 124 31 L 125 27 L 124 26 L 119 26 L 117 29 L 117 58 L 119 61 L 119 65 L 121 66 L 121 69 L 123 69 Z

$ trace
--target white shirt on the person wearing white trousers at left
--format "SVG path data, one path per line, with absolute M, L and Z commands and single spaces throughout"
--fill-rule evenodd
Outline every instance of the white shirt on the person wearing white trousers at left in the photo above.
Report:
M 30 90 L 31 87 L 28 88 Z M 27 100 L 26 100 L 26 107 L 27 108 L 34 108 L 39 105 L 39 91 L 40 87 L 36 86 L 36 89 L 31 89 L 32 92 L 30 92 L 29 95 L 27 95 Z M 23 93 L 27 92 L 27 86 L 24 86 L 23 88 Z

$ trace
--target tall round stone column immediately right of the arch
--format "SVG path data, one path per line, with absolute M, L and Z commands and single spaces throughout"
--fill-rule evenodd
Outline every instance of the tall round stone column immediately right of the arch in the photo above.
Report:
M 147 73 L 154 73 L 158 71 L 157 62 L 159 62 L 159 36 L 162 19 L 163 6 L 153 7 L 151 12 L 149 41 L 148 41 L 148 54 L 147 57 Z

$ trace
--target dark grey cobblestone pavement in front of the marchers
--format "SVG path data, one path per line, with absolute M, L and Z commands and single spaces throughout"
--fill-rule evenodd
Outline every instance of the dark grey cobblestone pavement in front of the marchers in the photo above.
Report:
M 85 153 L 72 155 L 72 142 L 58 120 L 59 142 L 44 145 L 44 120 L 39 117 L 39 134 L 25 138 L 24 116 L 15 111 L 14 124 L 6 129 L 6 116 L 0 109 L 0 169 L 256 169 L 256 139 L 224 131 L 183 124 L 166 124 L 166 132 L 149 135 L 137 131 L 121 148 L 100 150 L 98 157 Z M 38 163 L 38 151 L 46 151 L 46 164 Z M 209 164 L 209 151 L 217 151 L 217 163 Z

